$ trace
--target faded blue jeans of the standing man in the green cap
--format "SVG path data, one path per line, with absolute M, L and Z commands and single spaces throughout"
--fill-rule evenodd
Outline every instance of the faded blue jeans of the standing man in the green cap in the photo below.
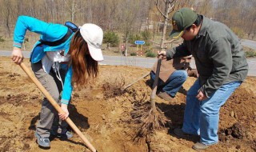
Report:
M 241 81 L 222 85 L 214 94 L 200 102 L 196 95 L 199 80 L 194 82 L 186 94 L 186 108 L 182 130 L 187 134 L 200 135 L 200 142 L 212 145 L 218 142 L 219 110 L 230 95 L 241 85 Z

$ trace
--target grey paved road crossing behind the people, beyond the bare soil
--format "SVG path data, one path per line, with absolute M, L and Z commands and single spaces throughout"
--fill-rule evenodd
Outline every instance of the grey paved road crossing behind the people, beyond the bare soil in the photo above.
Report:
M 25 58 L 30 58 L 30 51 L 22 52 Z M 10 56 L 10 50 L 1 50 L 0 56 Z M 104 61 L 99 62 L 101 65 L 124 65 L 124 66 L 138 66 L 144 68 L 151 68 L 157 58 L 140 58 L 140 57 L 124 57 L 124 56 L 108 56 L 104 55 Z M 256 58 L 247 58 L 249 64 L 250 76 L 256 76 Z M 191 66 L 195 67 L 194 61 L 192 60 Z

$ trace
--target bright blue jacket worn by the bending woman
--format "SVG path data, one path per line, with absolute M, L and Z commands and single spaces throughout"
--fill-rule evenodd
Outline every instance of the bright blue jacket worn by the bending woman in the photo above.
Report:
M 54 42 L 65 36 L 67 30 L 69 29 L 61 24 L 43 22 L 41 20 L 38 20 L 37 18 L 31 18 L 29 16 L 19 16 L 14 29 L 13 46 L 22 48 L 22 42 L 24 41 L 26 30 L 30 30 L 31 32 L 40 34 L 40 38 L 43 41 Z M 41 61 L 41 59 L 46 55 L 46 51 L 65 50 L 64 55 L 66 55 L 69 51 L 70 41 L 73 36 L 74 34 L 72 34 L 70 38 L 66 40 L 66 42 L 63 42 L 58 46 L 38 46 L 40 42 L 36 42 L 30 55 L 30 61 L 32 63 Z M 64 104 L 68 104 L 71 98 L 71 93 L 73 90 L 73 87 L 71 85 L 71 79 L 72 66 L 70 66 L 66 72 L 61 101 Z

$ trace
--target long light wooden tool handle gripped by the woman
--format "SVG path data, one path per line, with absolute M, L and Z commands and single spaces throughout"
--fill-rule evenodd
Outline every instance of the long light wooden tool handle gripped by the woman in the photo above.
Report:
M 52 98 L 49 94 L 49 92 L 42 86 L 41 82 L 38 81 L 37 78 L 34 77 L 34 74 L 27 68 L 25 63 L 21 63 L 19 66 L 22 67 L 22 70 L 25 71 L 25 73 L 31 78 L 31 80 L 34 82 L 36 86 L 38 86 L 38 89 L 42 91 L 42 94 L 46 96 L 46 98 L 49 100 L 49 102 L 54 106 L 55 110 L 58 111 L 58 113 L 64 113 L 62 108 L 58 106 L 58 103 L 54 101 L 54 98 Z M 74 122 L 68 117 L 66 118 L 66 122 L 70 125 L 70 127 L 79 135 L 80 138 L 82 138 L 82 141 L 86 143 L 86 146 L 92 151 L 96 152 L 97 150 L 90 144 L 90 142 L 86 139 L 86 137 L 82 134 L 82 132 L 78 129 L 77 126 L 74 125 Z

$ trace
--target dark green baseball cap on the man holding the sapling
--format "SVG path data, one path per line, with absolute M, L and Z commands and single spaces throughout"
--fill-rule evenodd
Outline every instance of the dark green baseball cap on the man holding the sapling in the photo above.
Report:
M 198 18 L 198 15 L 190 8 L 182 8 L 174 13 L 171 24 L 173 30 L 170 32 L 170 38 L 180 38 L 189 26 Z

